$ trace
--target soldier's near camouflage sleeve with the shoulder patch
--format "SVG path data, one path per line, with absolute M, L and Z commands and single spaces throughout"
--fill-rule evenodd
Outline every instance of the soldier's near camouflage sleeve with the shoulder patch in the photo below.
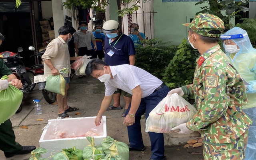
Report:
M 204 74 L 206 73 L 206 74 Z M 216 82 L 211 84 L 207 76 L 215 76 Z M 200 77 L 202 81 L 196 85 L 196 105 L 198 111 L 192 120 L 186 123 L 190 130 L 198 131 L 204 129 L 208 124 L 215 122 L 226 113 L 230 100 L 229 90 L 226 90 L 226 81 L 235 83 L 234 78 L 222 69 L 215 67 L 204 67 Z

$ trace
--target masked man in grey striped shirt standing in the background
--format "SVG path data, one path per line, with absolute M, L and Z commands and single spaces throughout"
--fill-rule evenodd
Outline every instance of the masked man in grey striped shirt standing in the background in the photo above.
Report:
M 79 23 L 81 30 L 74 33 L 74 45 L 78 56 L 92 56 L 94 58 L 94 50 L 97 50 L 96 40 L 92 31 L 88 29 L 88 23 L 82 21 Z M 94 44 L 94 50 L 92 50 L 92 43 Z

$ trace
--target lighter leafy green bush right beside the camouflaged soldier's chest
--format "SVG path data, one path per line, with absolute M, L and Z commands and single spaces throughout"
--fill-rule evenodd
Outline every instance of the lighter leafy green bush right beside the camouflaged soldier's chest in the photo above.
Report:
M 192 84 L 196 68 L 195 60 L 199 55 L 199 52 L 187 44 L 187 40 L 184 38 L 165 72 L 161 74 L 162 81 L 169 88 L 178 88 Z M 193 98 L 190 97 L 190 99 Z

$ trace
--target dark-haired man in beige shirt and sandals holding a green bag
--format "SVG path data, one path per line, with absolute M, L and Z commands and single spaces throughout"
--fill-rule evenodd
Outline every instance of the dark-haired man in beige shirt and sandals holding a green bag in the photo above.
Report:
M 68 118 L 67 112 L 72 112 L 79 110 L 79 108 L 72 108 L 68 106 L 67 103 L 67 92 L 70 83 L 70 60 L 78 60 L 79 57 L 70 57 L 68 52 L 68 44 L 72 38 L 72 35 L 76 30 L 71 26 L 62 26 L 58 30 L 59 36 L 52 40 L 46 47 L 46 51 L 42 55 L 42 60 L 44 61 L 44 75 L 53 75 L 56 76 L 59 73 L 59 70 L 63 68 L 68 68 L 68 73 L 61 73 L 64 79 L 66 80 L 66 88 L 64 97 L 61 94 L 57 94 L 58 102 L 58 116 L 61 118 Z

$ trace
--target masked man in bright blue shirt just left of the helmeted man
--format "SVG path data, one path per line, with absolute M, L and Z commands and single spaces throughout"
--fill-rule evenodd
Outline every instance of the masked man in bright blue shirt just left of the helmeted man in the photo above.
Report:
M 105 34 L 101 33 L 102 26 L 96 25 L 95 26 L 95 32 L 93 32 L 95 40 L 96 40 L 96 45 L 97 45 L 97 50 L 94 52 L 95 58 L 97 56 L 99 59 L 102 60 L 104 58 L 104 40 L 105 40 Z M 92 43 L 92 42 L 91 42 Z M 94 44 L 92 43 L 92 49 L 94 50 Z

